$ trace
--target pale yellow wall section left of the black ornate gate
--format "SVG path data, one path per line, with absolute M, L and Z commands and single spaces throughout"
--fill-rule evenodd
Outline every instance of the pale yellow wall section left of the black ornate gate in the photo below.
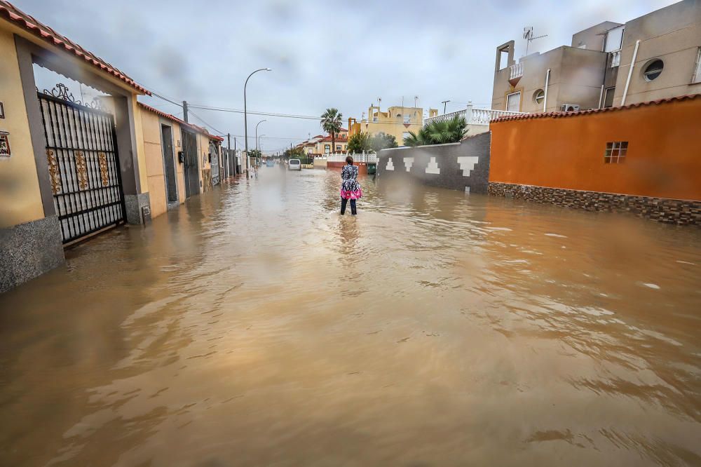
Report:
M 0 100 L 5 118 L 0 130 L 10 133 L 11 157 L 0 157 L 0 228 L 44 217 L 34 147 L 20 80 L 12 32 L 0 29 Z

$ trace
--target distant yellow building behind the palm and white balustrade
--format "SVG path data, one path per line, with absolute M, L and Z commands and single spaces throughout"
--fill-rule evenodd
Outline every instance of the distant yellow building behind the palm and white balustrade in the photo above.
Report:
M 410 131 L 416 133 L 422 126 L 423 107 L 389 107 L 383 112 L 379 106 L 372 105 L 367 109 L 367 118 L 348 119 L 348 137 L 361 132 L 370 136 L 386 133 L 394 136 L 401 146 Z

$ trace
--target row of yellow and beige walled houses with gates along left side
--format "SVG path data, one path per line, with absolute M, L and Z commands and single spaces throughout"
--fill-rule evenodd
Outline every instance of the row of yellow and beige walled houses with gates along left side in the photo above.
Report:
M 222 138 L 140 105 L 147 89 L 4 0 L 0 54 L 0 293 L 62 264 L 64 248 L 217 182 Z M 53 72 L 50 90 L 38 69 Z M 81 102 L 64 78 L 104 98 Z M 189 166 L 170 157 L 179 142 Z

